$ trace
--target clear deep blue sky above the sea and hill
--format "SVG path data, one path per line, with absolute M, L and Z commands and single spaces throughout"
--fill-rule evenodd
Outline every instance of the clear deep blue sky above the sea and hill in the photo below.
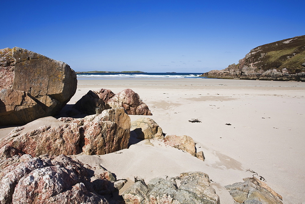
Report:
M 305 1 L 1 1 L 0 48 L 75 71 L 198 72 L 305 35 Z

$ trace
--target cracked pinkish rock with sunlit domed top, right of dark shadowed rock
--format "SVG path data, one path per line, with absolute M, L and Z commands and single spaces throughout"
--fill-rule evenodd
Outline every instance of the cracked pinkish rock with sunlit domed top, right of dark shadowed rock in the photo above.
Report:
M 131 89 L 124 89 L 120 93 L 114 95 L 107 102 L 110 107 L 124 107 L 129 115 L 152 115 L 145 103 Z

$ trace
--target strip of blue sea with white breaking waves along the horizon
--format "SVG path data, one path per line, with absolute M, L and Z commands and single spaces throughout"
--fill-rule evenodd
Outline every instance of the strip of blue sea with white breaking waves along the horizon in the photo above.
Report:
M 202 73 L 81 73 L 77 79 L 114 78 L 206 78 Z

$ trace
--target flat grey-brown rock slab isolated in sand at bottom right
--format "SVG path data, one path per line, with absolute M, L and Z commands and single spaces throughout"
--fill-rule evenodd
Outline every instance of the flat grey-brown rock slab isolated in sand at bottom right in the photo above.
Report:
M 239 203 L 282 203 L 282 196 L 273 191 L 266 183 L 256 177 L 244 178 L 239 182 L 225 186 L 235 202 Z

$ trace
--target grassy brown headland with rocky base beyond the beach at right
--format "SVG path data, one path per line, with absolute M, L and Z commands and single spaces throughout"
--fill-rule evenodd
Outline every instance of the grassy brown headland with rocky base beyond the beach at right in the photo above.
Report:
M 231 64 L 223 70 L 212 70 L 201 76 L 305 82 L 305 35 L 258 46 L 238 64 Z

